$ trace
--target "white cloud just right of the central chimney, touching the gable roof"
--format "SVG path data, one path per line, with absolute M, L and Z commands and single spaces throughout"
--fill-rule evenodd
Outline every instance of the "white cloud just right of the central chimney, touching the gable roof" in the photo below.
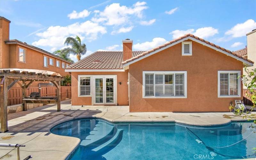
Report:
M 139 50 L 139 51 L 147 51 L 147 50 L 153 49 L 161 44 L 164 44 L 166 42 L 167 41 L 164 38 L 156 37 L 156 38 L 153 38 L 153 40 L 151 42 L 143 42 L 143 43 L 134 44 L 133 48 L 135 50 Z

